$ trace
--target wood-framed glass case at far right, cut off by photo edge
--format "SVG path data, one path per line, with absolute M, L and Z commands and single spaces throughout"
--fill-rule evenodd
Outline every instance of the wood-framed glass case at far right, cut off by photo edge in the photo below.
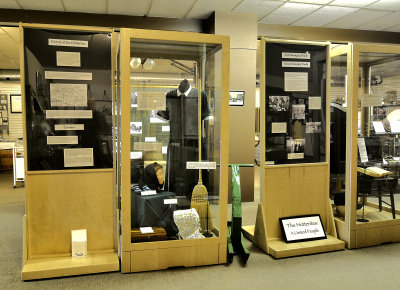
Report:
M 330 196 L 339 237 L 348 248 L 398 242 L 400 48 L 351 43 L 331 57 Z

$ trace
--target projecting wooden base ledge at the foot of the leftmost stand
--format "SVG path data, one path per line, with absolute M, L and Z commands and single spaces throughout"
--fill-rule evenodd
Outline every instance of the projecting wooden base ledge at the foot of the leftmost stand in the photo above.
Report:
M 22 269 L 22 280 L 45 279 L 119 271 L 117 253 L 97 253 L 87 257 L 30 259 Z

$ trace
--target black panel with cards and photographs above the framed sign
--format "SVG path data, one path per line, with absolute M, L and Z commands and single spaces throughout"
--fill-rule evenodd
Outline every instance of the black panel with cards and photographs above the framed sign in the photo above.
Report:
M 326 47 L 266 43 L 266 162 L 323 162 Z

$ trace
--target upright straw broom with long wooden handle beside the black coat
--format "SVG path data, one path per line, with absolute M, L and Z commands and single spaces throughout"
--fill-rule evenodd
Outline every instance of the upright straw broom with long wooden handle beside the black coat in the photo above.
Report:
M 201 162 L 201 81 L 198 84 L 198 142 L 199 142 L 199 162 Z M 196 209 L 200 218 L 200 228 L 202 233 L 208 234 L 212 229 L 212 219 L 210 205 L 208 203 L 207 188 L 203 185 L 201 169 L 199 169 L 199 181 L 193 188 L 190 207 Z M 212 236 L 212 235 L 211 235 Z

